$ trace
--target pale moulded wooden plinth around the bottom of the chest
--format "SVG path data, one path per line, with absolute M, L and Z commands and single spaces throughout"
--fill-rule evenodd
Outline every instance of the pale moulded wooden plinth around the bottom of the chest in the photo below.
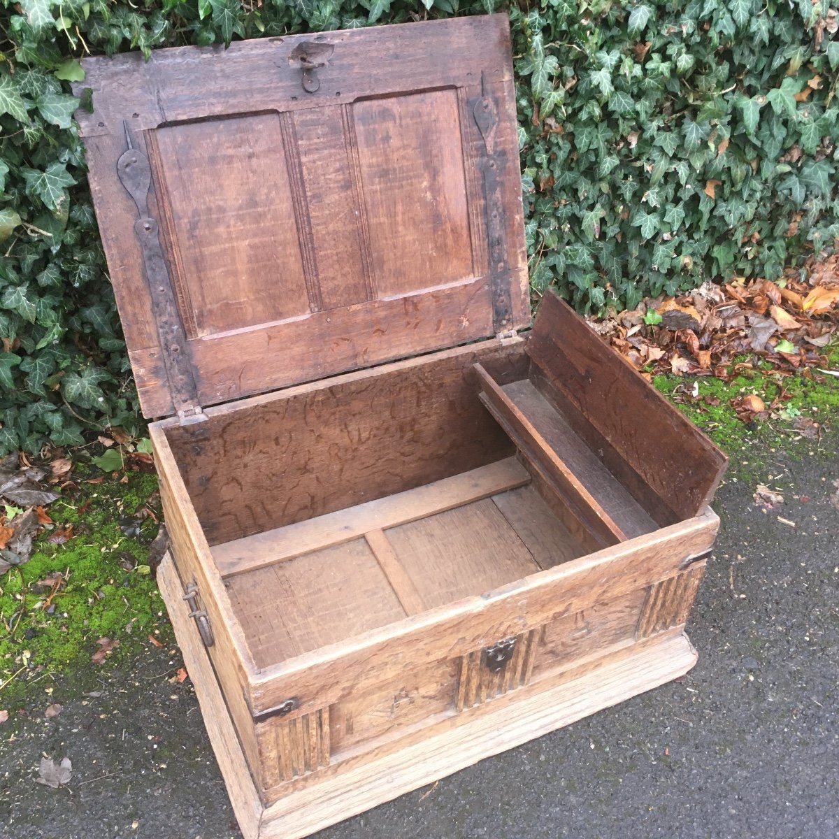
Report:
M 399 751 L 349 763 L 264 804 L 206 651 L 190 625 L 171 557 L 158 581 L 207 733 L 245 839 L 300 839 L 684 675 L 696 650 L 681 628 L 591 655 L 550 679 L 499 697 L 456 725 L 436 725 Z

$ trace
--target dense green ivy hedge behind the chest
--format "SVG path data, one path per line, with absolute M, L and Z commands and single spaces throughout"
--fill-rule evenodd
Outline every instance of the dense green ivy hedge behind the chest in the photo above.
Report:
M 87 54 L 506 9 L 496 0 L 2 0 L 0 451 L 138 424 L 69 81 Z M 508 9 L 531 279 L 581 310 L 831 247 L 826 0 Z

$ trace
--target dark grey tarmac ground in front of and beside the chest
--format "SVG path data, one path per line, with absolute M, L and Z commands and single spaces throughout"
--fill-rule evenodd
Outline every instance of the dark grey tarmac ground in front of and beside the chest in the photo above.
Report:
M 839 461 L 750 449 L 722 517 L 680 682 L 490 758 L 320 839 L 839 836 Z M 745 477 L 751 474 L 753 477 Z M 758 482 L 781 508 L 753 501 Z M 797 497 L 797 498 L 796 498 Z M 785 524 L 778 516 L 786 519 Z M 176 651 L 152 649 L 0 726 L 3 839 L 238 839 Z M 35 784 L 42 754 L 69 787 Z

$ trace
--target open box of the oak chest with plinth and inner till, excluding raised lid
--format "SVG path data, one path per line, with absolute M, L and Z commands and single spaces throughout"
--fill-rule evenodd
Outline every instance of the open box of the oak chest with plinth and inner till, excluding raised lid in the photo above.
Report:
M 549 306 L 524 340 L 152 427 L 164 595 L 223 698 L 207 724 L 246 834 L 304 836 L 695 661 L 722 456 L 561 326 Z M 551 357 L 561 331 L 585 357 Z M 684 462 L 656 472 L 659 450 Z

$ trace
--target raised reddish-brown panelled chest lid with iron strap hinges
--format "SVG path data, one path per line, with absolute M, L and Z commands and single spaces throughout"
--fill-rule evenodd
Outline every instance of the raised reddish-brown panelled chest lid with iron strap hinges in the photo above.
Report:
M 529 325 L 505 15 L 83 65 L 145 416 Z

